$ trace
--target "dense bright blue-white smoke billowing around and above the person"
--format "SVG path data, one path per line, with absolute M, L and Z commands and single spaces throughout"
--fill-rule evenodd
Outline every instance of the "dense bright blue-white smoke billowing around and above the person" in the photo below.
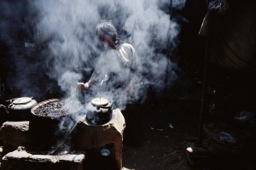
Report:
M 102 54 L 95 36 L 100 20 L 113 20 L 120 38 L 130 42 L 143 64 L 143 82 L 161 92 L 177 79 L 177 65 L 166 58 L 163 50 L 176 48 L 180 26 L 170 20 L 165 10 L 183 8 L 184 1 L 140 0 L 136 3 L 124 0 L 74 0 L 36 1 L 38 10 L 37 29 L 42 41 L 49 41 L 48 56 L 54 62 L 49 76 L 55 78 L 67 96 L 76 82 L 88 81 L 91 71 Z M 171 43 L 170 43 L 171 42 Z M 101 56 L 105 55 L 105 56 Z M 103 62 L 104 63 L 104 62 Z M 102 68 L 108 70 L 115 60 L 108 59 Z M 102 69 L 104 70 L 104 69 Z M 82 78 L 84 73 L 85 77 Z M 129 80 L 127 80 L 129 81 Z M 108 92 L 116 96 L 119 92 Z M 102 94 L 94 94 L 94 96 Z M 119 96 L 125 96 L 120 92 Z M 118 99 L 122 101 L 122 99 Z M 122 103 L 119 106 L 124 107 Z

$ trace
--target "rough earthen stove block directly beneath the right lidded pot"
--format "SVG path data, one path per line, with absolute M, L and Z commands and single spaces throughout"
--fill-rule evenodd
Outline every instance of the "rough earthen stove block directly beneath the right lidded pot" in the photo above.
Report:
M 121 169 L 124 129 L 124 116 L 119 109 L 113 110 L 111 120 L 103 125 L 90 125 L 85 119 L 79 121 L 73 133 L 73 142 L 76 147 L 82 150 L 113 144 L 115 160 Z

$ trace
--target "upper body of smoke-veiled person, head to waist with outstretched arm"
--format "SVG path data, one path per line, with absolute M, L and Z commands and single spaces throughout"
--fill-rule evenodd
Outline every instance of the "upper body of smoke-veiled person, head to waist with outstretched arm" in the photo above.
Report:
M 90 80 L 79 82 L 78 87 L 82 90 L 99 90 L 105 83 L 108 89 L 125 92 L 125 105 L 140 102 L 143 95 L 142 64 L 135 49 L 130 43 L 119 40 L 117 30 L 109 20 L 103 20 L 96 26 L 96 36 L 108 47 L 108 53 L 99 59 Z

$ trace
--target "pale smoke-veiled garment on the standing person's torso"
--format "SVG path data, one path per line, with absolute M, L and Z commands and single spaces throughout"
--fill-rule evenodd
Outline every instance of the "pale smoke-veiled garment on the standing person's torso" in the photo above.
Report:
M 89 83 L 90 86 L 95 85 L 93 90 L 102 88 L 107 95 L 119 100 L 119 105 L 134 103 L 140 99 L 142 65 L 131 44 L 120 43 L 102 54 Z

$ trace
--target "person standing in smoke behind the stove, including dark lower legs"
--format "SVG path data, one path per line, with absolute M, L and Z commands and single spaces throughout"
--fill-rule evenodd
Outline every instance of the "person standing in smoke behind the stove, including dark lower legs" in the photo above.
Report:
M 141 143 L 142 132 L 138 127 L 139 115 L 135 115 L 138 105 L 143 101 L 143 74 L 141 60 L 130 43 L 119 40 L 117 29 L 112 21 L 102 20 L 96 26 L 96 36 L 108 50 L 96 64 L 90 80 L 79 82 L 82 90 L 110 93 L 115 106 L 125 116 L 125 139 L 127 144 Z M 98 93 L 99 94 L 99 93 Z

